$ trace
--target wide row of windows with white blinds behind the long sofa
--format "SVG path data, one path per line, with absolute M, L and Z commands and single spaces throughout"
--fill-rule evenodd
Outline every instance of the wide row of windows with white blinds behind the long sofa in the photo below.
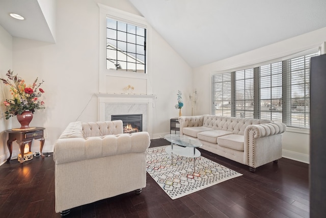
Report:
M 310 58 L 319 52 L 212 76 L 212 114 L 310 127 Z M 293 56 L 292 56 L 293 57 Z

